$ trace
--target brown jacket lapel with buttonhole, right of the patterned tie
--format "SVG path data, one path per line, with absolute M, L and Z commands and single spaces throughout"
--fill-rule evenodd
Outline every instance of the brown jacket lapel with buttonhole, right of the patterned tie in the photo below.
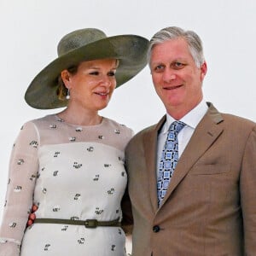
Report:
M 172 194 L 172 191 L 177 187 L 178 183 L 183 180 L 183 177 L 186 176 L 191 167 L 195 165 L 195 162 L 199 160 L 201 155 L 207 151 L 207 148 L 210 148 L 218 139 L 223 131 L 222 127 L 218 124 L 222 121 L 223 118 L 221 114 L 218 113 L 217 109 L 214 108 L 212 104 L 209 104 L 209 109 L 206 115 L 201 119 L 199 125 L 197 125 L 193 136 L 178 160 L 175 172 L 172 176 L 172 181 L 169 184 L 161 206 L 163 206 L 166 199 Z

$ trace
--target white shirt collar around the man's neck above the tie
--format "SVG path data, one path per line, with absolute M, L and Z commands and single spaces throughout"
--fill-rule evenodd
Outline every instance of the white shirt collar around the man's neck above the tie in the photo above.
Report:
M 183 116 L 180 121 L 195 129 L 195 127 L 199 124 L 203 116 L 207 113 L 208 107 L 207 102 L 202 100 L 195 108 L 189 111 L 186 115 Z M 169 113 L 166 113 L 166 124 L 163 126 L 163 133 L 166 133 L 172 124 L 172 122 L 176 121 L 176 119 L 172 118 Z

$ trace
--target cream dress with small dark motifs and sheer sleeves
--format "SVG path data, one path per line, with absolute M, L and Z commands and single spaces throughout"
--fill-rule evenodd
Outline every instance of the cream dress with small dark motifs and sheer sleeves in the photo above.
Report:
M 106 118 L 100 125 L 79 126 L 53 114 L 23 125 L 10 160 L 0 256 L 125 255 L 119 227 L 26 229 L 26 221 L 32 203 L 38 205 L 37 218 L 122 218 L 124 149 L 131 136 L 131 129 Z

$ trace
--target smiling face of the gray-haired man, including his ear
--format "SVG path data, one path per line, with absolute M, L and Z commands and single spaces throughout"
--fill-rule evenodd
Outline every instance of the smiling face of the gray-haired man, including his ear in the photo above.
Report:
M 174 118 L 182 118 L 201 102 L 207 64 L 195 66 L 183 38 L 155 44 L 149 66 L 156 93 Z

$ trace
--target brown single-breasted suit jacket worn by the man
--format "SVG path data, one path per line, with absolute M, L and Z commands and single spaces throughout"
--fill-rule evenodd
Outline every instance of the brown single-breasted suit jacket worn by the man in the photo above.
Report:
M 212 104 L 157 207 L 157 136 L 166 117 L 126 148 L 133 256 L 256 255 L 256 124 Z

